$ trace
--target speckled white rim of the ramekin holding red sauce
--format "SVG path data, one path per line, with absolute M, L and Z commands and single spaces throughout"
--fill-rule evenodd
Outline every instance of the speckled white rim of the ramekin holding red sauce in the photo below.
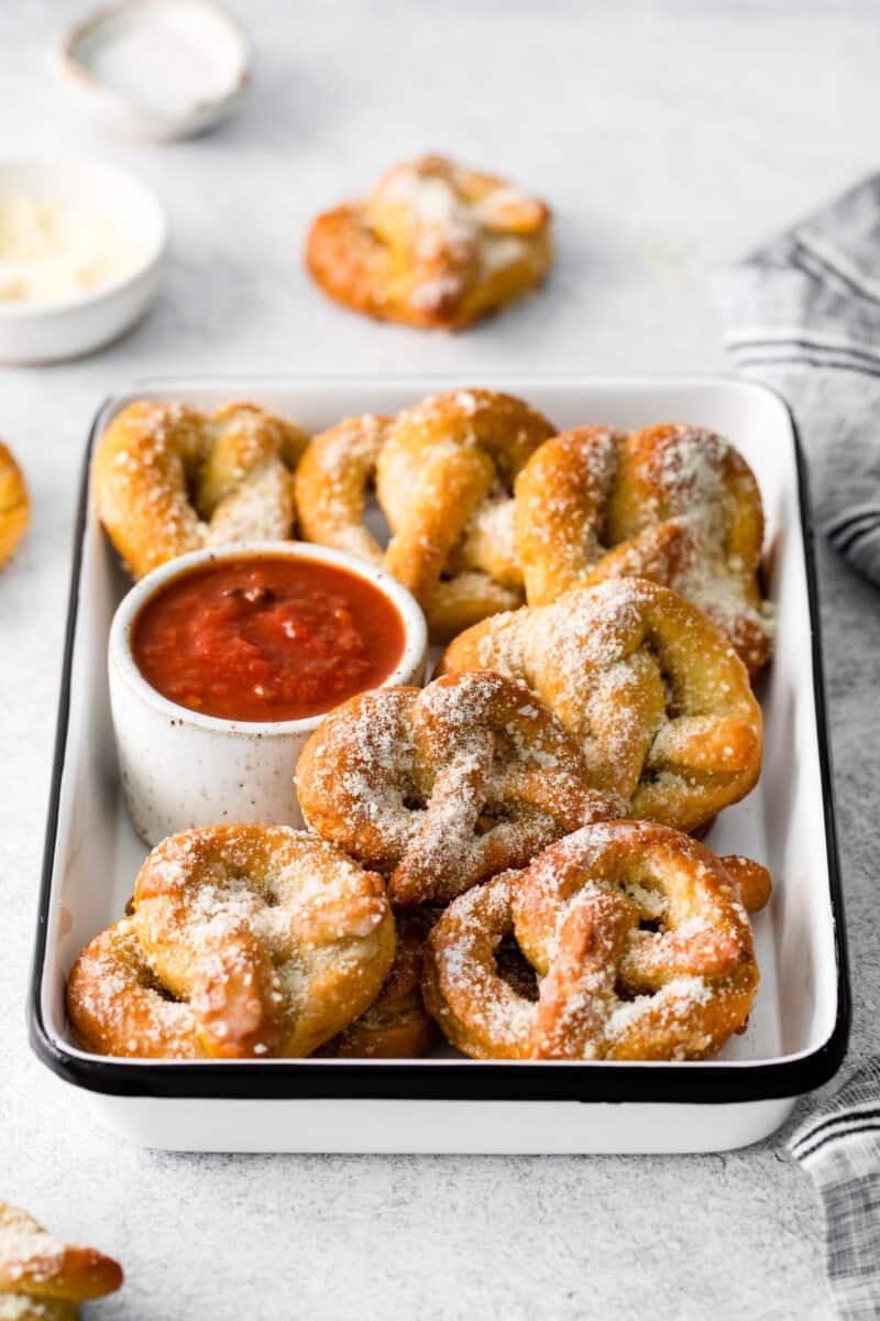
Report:
M 135 660 L 131 634 L 135 620 L 146 602 L 166 583 L 183 576 L 202 564 L 223 560 L 259 559 L 260 556 L 284 556 L 296 560 L 314 560 L 319 564 L 334 564 L 376 587 L 396 608 L 404 624 L 404 650 L 400 662 L 380 688 L 396 688 L 414 683 L 427 657 L 427 625 L 416 597 L 385 569 L 363 560 L 347 551 L 336 551 L 329 546 L 315 546 L 313 542 L 231 542 L 227 546 L 202 547 L 166 560 L 140 579 L 123 597 L 110 626 L 108 664 L 128 684 L 129 688 L 149 705 L 177 724 L 191 725 L 212 733 L 235 734 L 248 738 L 277 738 L 290 734 L 310 733 L 332 711 L 315 716 L 302 716 L 299 720 L 226 720 L 222 716 L 206 716 L 199 711 L 181 707 L 164 697 L 141 674 Z

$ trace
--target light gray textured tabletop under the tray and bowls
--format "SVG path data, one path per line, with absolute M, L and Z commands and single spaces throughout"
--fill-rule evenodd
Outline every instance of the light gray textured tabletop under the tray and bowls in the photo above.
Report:
M 82 1127 L 24 1033 L 75 486 L 103 394 L 145 374 L 712 369 L 705 276 L 876 165 L 869 5 L 658 11 L 474 0 L 232 5 L 255 86 L 216 135 L 98 136 L 47 71 L 79 4 L 0 8 L 0 151 L 100 153 L 165 197 L 161 301 L 87 362 L 0 376 L 36 513 L 0 577 L 0 1196 L 121 1259 L 95 1317 L 819 1317 L 813 1190 L 780 1140 L 701 1159 L 149 1155 Z M 319 205 L 425 148 L 544 193 L 548 291 L 447 338 L 336 310 L 298 259 Z M 821 491 L 846 453 L 823 465 Z M 844 478 L 840 478 L 844 481 Z M 854 1055 L 877 1046 L 877 596 L 823 556 Z M 100 884 L 100 877 L 95 878 Z

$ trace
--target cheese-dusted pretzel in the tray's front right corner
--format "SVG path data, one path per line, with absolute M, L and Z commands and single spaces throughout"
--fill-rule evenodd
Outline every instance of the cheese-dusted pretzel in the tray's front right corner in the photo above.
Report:
M 701 1058 L 744 1028 L 759 982 L 724 861 L 645 822 L 569 835 L 450 905 L 429 938 L 426 1004 L 476 1058 Z M 511 935 L 537 997 L 501 975 Z

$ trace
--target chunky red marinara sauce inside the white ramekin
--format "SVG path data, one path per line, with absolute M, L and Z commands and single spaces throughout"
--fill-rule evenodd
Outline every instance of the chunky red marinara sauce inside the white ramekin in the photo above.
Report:
M 181 573 L 144 605 L 132 654 L 169 701 L 224 720 L 301 720 L 381 684 L 404 621 L 356 573 L 281 555 Z

